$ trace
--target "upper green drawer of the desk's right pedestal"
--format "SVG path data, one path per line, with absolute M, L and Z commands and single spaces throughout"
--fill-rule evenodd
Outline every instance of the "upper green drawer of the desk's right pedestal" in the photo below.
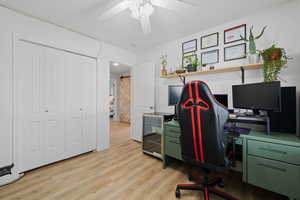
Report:
M 248 140 L 248 154 L 300 165 L 300 148 Z

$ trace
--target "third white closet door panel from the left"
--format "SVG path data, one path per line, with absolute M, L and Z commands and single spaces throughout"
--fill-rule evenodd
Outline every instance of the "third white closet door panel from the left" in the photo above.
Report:
M 68 54 L 66 73 L 66 156 L 83 152 L 83 66 L 77 55 Z

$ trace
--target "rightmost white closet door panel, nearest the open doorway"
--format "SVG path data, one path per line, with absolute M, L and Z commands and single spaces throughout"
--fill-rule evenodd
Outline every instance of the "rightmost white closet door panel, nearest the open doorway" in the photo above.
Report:
M 82 58 L 83 145 L 84 151 L 96 149 L 96 60 Z

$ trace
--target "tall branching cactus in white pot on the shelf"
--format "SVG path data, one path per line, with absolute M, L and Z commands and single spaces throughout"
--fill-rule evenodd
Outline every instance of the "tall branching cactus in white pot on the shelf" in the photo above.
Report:
M 248 54 L 248 59 L 249 59 L 249 64 L 255 64 L 255 63 L 259 63 L 260 62 L 260 54 L 256 49 L 256 44 L 255 44 L 255 40 L 258 40 L 259 38 L 261 38 L 261 36 L 264 34 L 265 29 L 267 28 L 267 26 L 265 26 L 262 31 L 260 32 L 260 34 L 258 36 L 254 36 L 253 35 L 253 26 L 250 28 L 250 35 L 249 38 L 244 38 L 243 36 L 241 36 L 241 39 L 248 42 L 249 43 L 249 54 Z

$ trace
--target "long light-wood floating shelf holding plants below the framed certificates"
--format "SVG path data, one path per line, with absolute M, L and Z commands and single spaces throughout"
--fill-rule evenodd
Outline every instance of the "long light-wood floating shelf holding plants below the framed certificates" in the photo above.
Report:
M 224 67 L 224 68 L 214 69 L 214 70 L 186 72 L 186 73 L 178 74 L 178 75 L 180 75 L 181 77 L 186 77 L 186 76 L 196 76 L 196 75 L 205 75 L 205 74 L 237 72 L 237 71 L 241 71 L 241 69 L 253 70 L 253 69 L 261 69 L 261 68 L 263 68 L 263 64 L 250 64 L 250 65 L 240 65 L 240 66 L 233 66 L 233 67 Z M 160 77 L 161 78 L 177 78 L 178 75 L 177 74 L 169 74 L 169 75 L 160 76 Z

